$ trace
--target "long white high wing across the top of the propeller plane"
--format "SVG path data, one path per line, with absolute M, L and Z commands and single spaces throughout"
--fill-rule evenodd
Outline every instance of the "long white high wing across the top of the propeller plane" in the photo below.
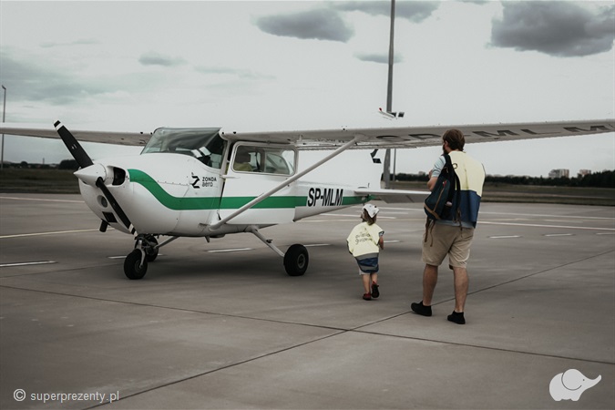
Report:
M 392 128 L 333 128 L 272 132 L 241 132 L 220 129 L 222 138 L 230 141 L 251 141 L 292 144 L 299 149 L 335 149 L 354 140 L 352 149 L 395 149 L 438 146 L 446 129 L 458 128 L 466 143 L 510 141 L 529 138 L 568 137 L 615 131 L 615 119 L 582 121 L 499 123 L 447 126 L 403 126 Z M 108 132 L 71 128 L 80 141 L 144 146 L 149 132 Z M 0 133 L 41 138 L 59 138 L 54 127 L 1 123 Z

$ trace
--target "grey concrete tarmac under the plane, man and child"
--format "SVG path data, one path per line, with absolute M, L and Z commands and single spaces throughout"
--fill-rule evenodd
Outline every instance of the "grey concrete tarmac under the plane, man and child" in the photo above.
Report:
M 615 208 L 484 203 L 465 325 L 452 273 L 422 292 L 420 204 L 384 204 L 377 300 L 345 238 L 360 207 L 248 233 L 182 238 L 129 281 L 129 235 L 78 195 L 0 194 L 0 408 L 615 408 Z M 549 387 L 577 369 L 578 401 Z M 559 376 L 561 377 L 561 376 Z

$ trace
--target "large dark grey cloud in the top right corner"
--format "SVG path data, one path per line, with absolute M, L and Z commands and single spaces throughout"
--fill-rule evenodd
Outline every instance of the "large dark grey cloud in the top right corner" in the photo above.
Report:
M 549 56 L 589 56 L 609 51 L 615 38 L 615 6 L 591 12 L 569 2 L 503 2 L 491 44 Z

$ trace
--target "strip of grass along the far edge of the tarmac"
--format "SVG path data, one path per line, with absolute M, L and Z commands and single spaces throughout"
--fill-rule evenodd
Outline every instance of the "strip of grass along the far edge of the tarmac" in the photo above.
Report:
M 397 190 L 426 190 L 425 182 L 395 181 Z M 70 169 L 2 169 L 0 193 L 79 193 Z M 560 203 L 615 206 L 615 189 L 486 184 L 485 202 Z

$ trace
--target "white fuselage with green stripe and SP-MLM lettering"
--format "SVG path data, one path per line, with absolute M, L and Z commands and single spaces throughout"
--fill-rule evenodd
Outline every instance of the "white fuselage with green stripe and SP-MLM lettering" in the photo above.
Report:
M 87 206 L 101 220 L 129 232 L 94 184 L 102 178 L 138 233 L 214 237 L 292 222 L 370 200 L 352 187 L 298 179 L 292 145 L 229 144 L 215 128 L 159 128 L 141 155 L 100 159 L 77 171 Z M 282 185 L 282 187 L 281 187 Z M 261 194 L 250 209 L 213 229 Z

